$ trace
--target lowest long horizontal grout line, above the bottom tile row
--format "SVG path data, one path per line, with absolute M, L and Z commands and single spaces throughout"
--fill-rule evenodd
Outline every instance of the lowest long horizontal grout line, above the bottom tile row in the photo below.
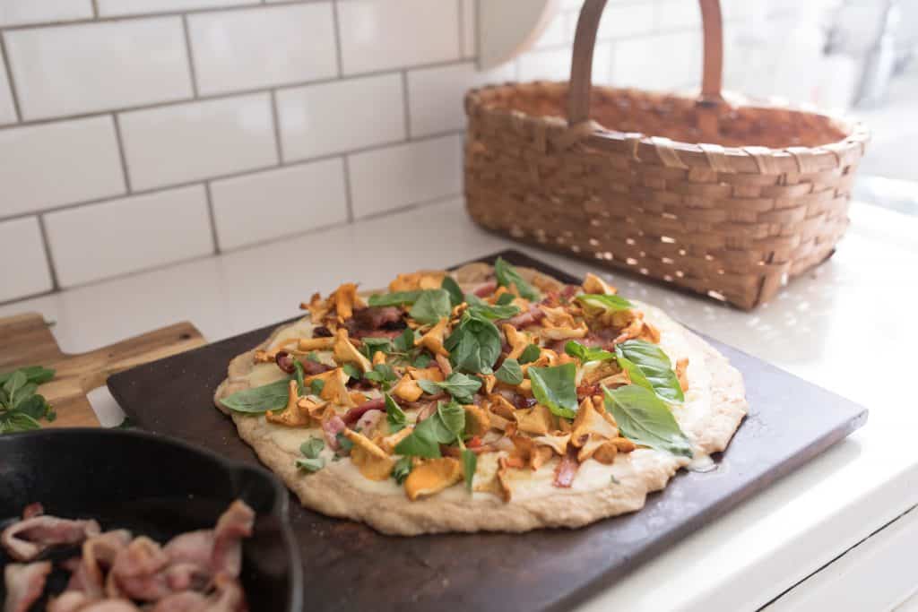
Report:
M 150 187 L 146 189 L 138 189 L 136 191 L 130 192 L 129 195 L 133 196 L 133 195 L 158 194 L 164 191 L 171 191 L 174 189 L 181 189 L 183 187 L 190 187 L 193 185 L 202 184 L 205 181 L 221 181 L 224 179 L 233 179 L 233 178 L 238 178 L 241 176 L 250 176 L 252 174 L 258 174 L 260 172 L 268 172 L 271 170 L 278 170 L 281 168 L 291 168 L 291 167 L 297 167 L 297 166 L 302 166 L 302 165 L 308 165 L 310 163 L 316 163 L 319 161 L 333 160 L 335 158 L 339 158 L 342 156 L 359 155 L 361 153 L 368 153 L 368 152 L 372 152 L 376 150 L 385 150 L 385 149 L 400 147 L 400 146 L 412 144 L 415 142 L 423 142 L 426 140 L 435 140 L 435 139 L 447 138 L 449 136 L 457 136 L 457 135 L 464 133 L 464 131 L 465 131 L 464 129 L 449 129 L 449 130 L 444 130 L 442 132 L 435 132 L 433 134 L 425 134 L 424 136 L 417 137 L 410 141 L 408 139 L 389 140 L 387 142 L 381 142 L 381 143 L 377 143 L 373 145 L 368 145 L 366 147 L 359 147 L 353 150 L 334 151 L 331 153 L 326 153 L 324 155 L 318 155 L 315 157 L 289 160 L 289 161 L 285 161 L 284 163 L 272 163 L 270 165 L 258 166 L 257 168 L 248 168 L 246 170 L 240 170 L 237 172 L 228 172 L 225 174 L 217 174 L 214 176 L 201 177 L 201 178 L 197 178 L 197 179 L 190 180 L 190 181 L 184 181 L 182 183 L 165 184 L 165 185 L 158 185 L 156 187 Z M 12 221 L 12 220 L 23 218 L 23 217 L 33 217 L 37 214 L 47 214 L 47 213 L 58 212 L 61 210 L 71 210 L 73 208 L 79 208 L 80 206 L 93 206 L 95 204 L 104 204 L 106 202 L 111 202 L 113 200 L 119 200 L 124 197 L 125 197 L 125 194 L 106 195 L 104 197 L 98 197 L 98 198 L 94 198 L 90 200 L 81 200 L 79 202 L 71 202 L 68 204 L 63 204 L 61 206 L 48 206 L 46 208 L 41 208 L 39 210 L 23 211 L 21 213 L 15 213 L 13 215 L 7 215 L 6 217 L 0 217 L 0 222 Z

